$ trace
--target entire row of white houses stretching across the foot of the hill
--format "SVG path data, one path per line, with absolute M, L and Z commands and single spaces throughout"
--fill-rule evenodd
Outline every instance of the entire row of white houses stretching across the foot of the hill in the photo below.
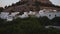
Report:
M 0 13 L 0 18 L 1 19 L 6 19 L 7 21 L 12 21 L 13 19 L 16 19 L 17 17 L 19 18 L 28 18 L 29 16 L 35 16 L 35 17 L 44 17 L 47 16 L 49 19 L 53 19 L 54 17 L 60 17 L 60 12 L 53 10 L 40 10 L 39 12 L 24 12 L 24 14 L 19 15 L 20 12 L 1 12 Z

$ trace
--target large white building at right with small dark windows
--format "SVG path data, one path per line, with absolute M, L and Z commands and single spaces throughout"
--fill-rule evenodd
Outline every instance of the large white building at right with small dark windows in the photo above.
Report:
M 52 10 L 51 10 L 52 11 Z M 57 12 L 56 10 L 53 10 L 52 12 L 51 11 L 44 11 L 44 10 L 40 10 L 39 11 L 39 15 L 41 17 L 48 17 L 49 19 L 53 19 L 55 17 L 60 17 L 60 12 Z

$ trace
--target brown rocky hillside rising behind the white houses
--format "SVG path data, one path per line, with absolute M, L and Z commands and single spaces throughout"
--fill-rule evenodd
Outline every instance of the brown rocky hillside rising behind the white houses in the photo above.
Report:
M 14 12 L 14 11 L 39 11 L 40 9 L 52 9 L 60 10 L 60 8 L 53 7 L 52 3 L 49 0 L 21 0 L 18 3 L 5 8 L 4 11 Z

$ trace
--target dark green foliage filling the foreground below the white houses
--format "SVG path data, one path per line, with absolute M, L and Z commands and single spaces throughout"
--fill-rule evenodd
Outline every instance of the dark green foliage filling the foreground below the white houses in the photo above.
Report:
M 47 17 L 29 17 L 6 22 L 0 19 L 0 34 L 60 34 L 58 29 L 44 28 L 47 24 L 52 25 L 54 20 L 49 20 Z

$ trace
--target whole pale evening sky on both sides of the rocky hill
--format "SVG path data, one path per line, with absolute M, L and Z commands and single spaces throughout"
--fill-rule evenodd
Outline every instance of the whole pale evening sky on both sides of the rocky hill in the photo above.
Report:
M 0 0 L 0 7 L 11 5 L 12 3 L 16 3 L 19 0 Z M 50 0 L 53 4 L 60 6 L 60 0 Z

